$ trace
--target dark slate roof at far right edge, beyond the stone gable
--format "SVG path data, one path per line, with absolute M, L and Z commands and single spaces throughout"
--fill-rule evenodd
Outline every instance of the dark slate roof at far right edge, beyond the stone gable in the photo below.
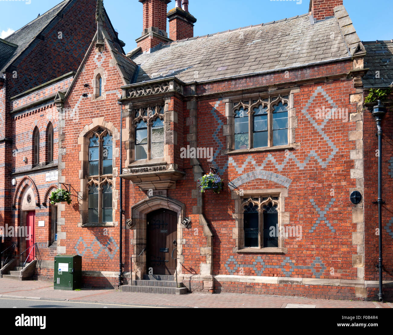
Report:
M 387 87 L 393 84 L 393 40 L 363 42 L 367 51 L 364 68 L 369 72 L 363 77 L 364 87 Z M 379 78 L 376 78 L 379 71 Z

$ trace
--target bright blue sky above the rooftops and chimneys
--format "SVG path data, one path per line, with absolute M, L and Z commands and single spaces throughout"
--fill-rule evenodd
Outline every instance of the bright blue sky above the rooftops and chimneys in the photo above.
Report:
M 0 37 L 5 38 L 60 2 L 0 0 Z M 119 39 L 126 44 L 125 52 L 134 49 L 135 39 L 142 31 L 142 4 L 138 0 L 104 0 L 104 6 Z M 173 0 L 168 10 L 174 6 Z M 393 0 L 344 0 L 344 6 L 361 40 L 393 39 Z M 197 19 L 194 36 L 290 18 L 308 11 L 309 0 L 189 0 L 189 12 Z

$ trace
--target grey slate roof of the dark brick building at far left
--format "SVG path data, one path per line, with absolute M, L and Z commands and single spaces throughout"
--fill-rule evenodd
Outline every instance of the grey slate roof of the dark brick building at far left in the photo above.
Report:
M 50 22 L 56 17 L 56 15 L 67 6 L 69 2 L 72 0 L 64 0 L 60 4 L 56 5 L 46 13 L 40 15 L 33 21 L 26 24 L 26 26 L 18 29 L 4 40 L 7 42 L 11 42 L 13 44 L 17 44 L 16 50 L 12 55 L 2 56 L 2 49 L 0 47 L 0 64 L 3 63 L 0 69 L 0 74 L 3 73 L 8 66 L 10 66 L 18 56 L 28 48 L 29 44 L 44 30 L 44 28 L 50 24 Z M 8 58 L 7 60 L 1 61 L 1 58 Z

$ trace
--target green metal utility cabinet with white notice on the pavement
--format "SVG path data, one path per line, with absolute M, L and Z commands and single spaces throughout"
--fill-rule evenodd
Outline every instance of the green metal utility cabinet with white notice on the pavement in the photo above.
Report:
M 82 257 L 79 255 L 55 256 L 55 275 L 53 276 L 55 290 L 82 288 Z

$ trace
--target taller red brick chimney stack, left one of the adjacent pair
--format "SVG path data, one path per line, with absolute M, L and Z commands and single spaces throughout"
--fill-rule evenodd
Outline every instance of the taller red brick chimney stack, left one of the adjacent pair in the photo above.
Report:
M 171 0 L 139 0 L 143 4 L 142 36 L 136 39 L 143 52 L 150 52 L 161 43 L 169 42 L 167 5 Z

